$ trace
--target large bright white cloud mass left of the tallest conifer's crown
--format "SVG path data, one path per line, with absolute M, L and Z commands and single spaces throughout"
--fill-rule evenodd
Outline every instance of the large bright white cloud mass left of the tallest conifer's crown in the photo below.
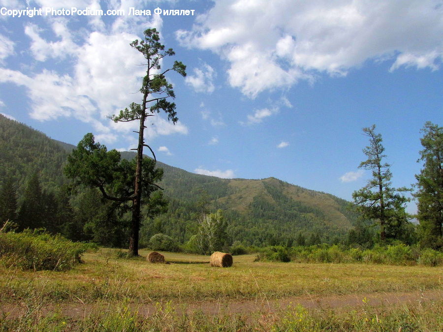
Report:
M 48 1 L 42 1 L 42 5 L 43 2 L 44 5 L 48 4 Z M 132 130 L 138 128 L 136 121 L 114 123 L 106 116 L 117 114 L 137 98 L 141 99 L 141 95 L 134 94 L 134 91 L 140 89 L 144 68 L 139 64 L 144 63 L 144 58 L 129 46 L 132 40 L 139 37 L 118 29 L 108 32 L 84 30 L 81 37 L 72 36 L 64 20 L 47 21 L 55 40 L 42 37 L 46 33 L 43 34 L 40 28 L 32 24 L 25 27 L 25 33 L 31 39 L 31 52 L 35 60 L 63 60 L 70 57 L 72 67 L 68 67 L 65 73 L 49 69 L 39 72 L 28 70 L 25 73 L 0 67 L 0 82 L 26 88 L 33 119 L 47 121 L 72 117 L 90 123 L 101 141 L 114 143 L 123 139 L 132 148 L 136 143 L 132 135 Z M 146 18 L 144 20 L 144 24 L 149 24 Z M 6 48 L 5 45 L 9 44 L 0 43 L 0 61 L 2 54 L 13 52 L 10 47 Z M 50 64 L 49 61 L 47 63 Z M 173 125 L 160 115 L 150 117 L 146 125 L 147 139 L 188 133 L 188 128 L 180 121 Z

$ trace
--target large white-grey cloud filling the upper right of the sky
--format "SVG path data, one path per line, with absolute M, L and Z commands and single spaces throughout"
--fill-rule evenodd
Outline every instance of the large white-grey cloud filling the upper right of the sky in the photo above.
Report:
M 346 75 L 366 60 L 436 70 L 442 15 L 438 0 L 216 0 L 176 37 L 227 60 L 230 85 L 254 98 L 317 72 Z

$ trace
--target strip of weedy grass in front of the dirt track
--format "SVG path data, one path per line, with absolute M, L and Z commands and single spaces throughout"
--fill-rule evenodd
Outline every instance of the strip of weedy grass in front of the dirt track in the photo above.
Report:
M 185 307 L 182 306 L 182 309 Z M 72 318 L 56 310 L 44 315 L 41 308 L 29 306 L 20 318 L 0 318 L 0 331 L 441 331 L 443 301 L 374 307 L 370 304 L 350 311 L 307 310 L 289 305 L 275 312 L 204 315 L 183 310 L 178 314 L 170 302 L 157 303 L 145 316 L 126 303 L 95 309 Z

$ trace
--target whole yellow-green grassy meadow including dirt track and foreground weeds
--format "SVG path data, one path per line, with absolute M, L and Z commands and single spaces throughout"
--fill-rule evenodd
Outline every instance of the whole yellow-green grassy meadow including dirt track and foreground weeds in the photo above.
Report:
M 17 331 L 443 331 L 443 269 L 87 252 L 67 272 L 0 262 L 0 320 Z M 145 256 L 149 251 L 140 250 Z M 396 303 L 396 304 L 393 304 Z M 301 304 L 301 305 L 300 305 Z M 0 329 L 1 331 L 1 329 Z

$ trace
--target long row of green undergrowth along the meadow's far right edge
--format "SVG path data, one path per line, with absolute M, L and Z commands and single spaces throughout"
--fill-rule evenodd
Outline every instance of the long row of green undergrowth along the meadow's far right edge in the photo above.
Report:
M 390 265 L 442 266 L 443 253 L 420 250 L 405 244 L 375 246 L 372 249 L 348 248 L 341 245 L 311 245 L 285 248 L 273 246 L 262 249 L 256 261 L 296 263 L 370 263 Z

